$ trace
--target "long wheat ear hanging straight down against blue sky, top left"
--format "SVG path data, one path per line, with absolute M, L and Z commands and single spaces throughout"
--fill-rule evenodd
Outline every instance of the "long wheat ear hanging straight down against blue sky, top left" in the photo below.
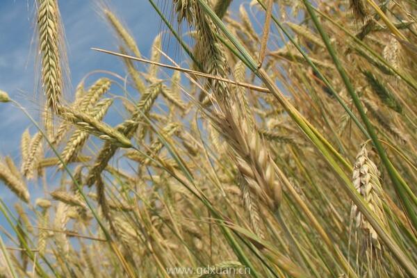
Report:
M 46 106 L 56 112 L 63 91 L 61 51 L 63 34 L 56 0 L 37 0 L 39 49 L 42 61 L 42 88 Z

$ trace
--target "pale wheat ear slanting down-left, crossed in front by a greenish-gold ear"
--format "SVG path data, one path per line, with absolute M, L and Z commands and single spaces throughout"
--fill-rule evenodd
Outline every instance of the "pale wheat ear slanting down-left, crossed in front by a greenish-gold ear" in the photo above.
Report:
M 113 99 L 104 99 L 100 101 L 95 108 L 92 109 L 91 115 L 95 120 L 103 120 L 104 115 L 106 115 L 108 108 L 113 104 Z M 85 142 L 88 139 L 88 132 L 81 129 L 77 129 L 72 134 L 71 138 L 68 140 L 67 145 L 65 146 L 61 158 L 64 163 L 69 163 L 72 161 L 78 154 L 81 152 Z M 58 167 L 63 168 L 62 163 Z

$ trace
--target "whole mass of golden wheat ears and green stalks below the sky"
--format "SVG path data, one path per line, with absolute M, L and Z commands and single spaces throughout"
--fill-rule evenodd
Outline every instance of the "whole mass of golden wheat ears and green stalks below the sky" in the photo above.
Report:
M 0 277 L 417 277 L 416 1 L 231 2 L 149 0 L 145 58 L 98 1 L 119 49 L 92 53 L 125 72 L 66 93 L 35 1 L 38 119 L 0 91 L 33 122 L 0 160 Z

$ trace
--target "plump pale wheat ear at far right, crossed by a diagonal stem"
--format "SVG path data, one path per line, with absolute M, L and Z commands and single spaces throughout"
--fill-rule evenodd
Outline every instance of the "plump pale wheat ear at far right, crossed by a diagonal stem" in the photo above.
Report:
M 352 182 L 358 193 L 363 197 L 366 204 L 377 216 L 379 222 L 387 225 L 384 213 L 383 189 L 379 181 L 377 165 L 368 157 L 366 145 L 361 147 L 354 163 Z M 351 218 L 354 220 L 355 228 L 362 229 L 370 237 L 373 247 L 381 249 L 381 243 L 377 232 L 369 224 L 355 204 L 352 204 Z

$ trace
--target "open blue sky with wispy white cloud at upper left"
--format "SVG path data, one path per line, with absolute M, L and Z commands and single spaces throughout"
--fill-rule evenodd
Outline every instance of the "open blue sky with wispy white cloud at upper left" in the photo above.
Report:
M 149 47 L 161 23 L 148 1 L 108 1 L 112 10 L 129 26 L 143 54 Z M 124 76 L 122 63 L 115 57 L 99 54 L 90 47 L 117 49 L 111 28 L 99 14 L 97 1 L 59 1 L 65 28 L 67 56 L 72 88 L 92 70 L 109 70 Z M 36 44 L 33 1 L 1 0 L 0 5 L 0 90 L 24 104 L 38 115 L 38 95 L 35 90 Z M 97 76 L 98 78 L 98 76 Z M 0 106 L 0 155 L 18 156 L 19 136 L 30 123 L 11 105 Z M 34 132 L 34 131 L 33 131 Z

